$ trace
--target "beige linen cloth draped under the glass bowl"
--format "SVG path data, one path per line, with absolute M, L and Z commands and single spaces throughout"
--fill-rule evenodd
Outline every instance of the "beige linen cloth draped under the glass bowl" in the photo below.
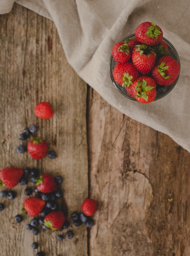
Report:
M 0 0 L 0 13 L 11 11 L 14 2 L 53 20 L 68 63 L 110 105 L 190 152 L 190 1 Z M 175 88 L 149 104 L 126 99 L 114 88 L 108 71 L 114 43 L 144 21 L 161 27 L 181 61 Z

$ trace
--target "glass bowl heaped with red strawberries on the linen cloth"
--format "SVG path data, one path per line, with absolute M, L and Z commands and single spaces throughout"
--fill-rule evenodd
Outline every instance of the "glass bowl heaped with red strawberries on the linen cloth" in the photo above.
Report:
M 175 47 L 153 22 L 142 22 L 131 34 L 115 43 L 109 62 L 115 88 L 128 99 L 150 103 L 175 87 L 180 60 Z

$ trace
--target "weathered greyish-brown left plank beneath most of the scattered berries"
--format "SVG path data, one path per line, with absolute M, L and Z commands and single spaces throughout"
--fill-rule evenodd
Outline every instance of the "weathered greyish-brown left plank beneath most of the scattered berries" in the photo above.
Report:
M 86 141 L 86 84 L 68 65 L 52 21 L 15 4 L 11 13 L 0 16 L 0 168 L 6 166 L 37 167 L 42 173 L 62 175 L 64 212 L 71 221 L 72 211 L 80 210 L 88 196 L 88 154 Z M 80 90 L 79 90 L 80 88 Z M 35 117 L 40 101 L 55 108 L 53 117 Z M 18 135 L 31 124 L 38 126 L 36 135 L 49 142 L 56 159 L 33 160 L 28 153 L 18 154 Z M 21 213 L 26 186 L 15 187 L 17 198 L 5 203 L 1 212 L 1 256 L 32 256 L 33 241 L 46 255 L 87 255 L 87 231 L 83 226 L 70 227 L 73 240 L 56 240 L 64 231 L 41 230 L 38 236 L 27 231 L 31 218 L 20 224 L 14 216 Z M 38 250 L 38 251 L 39 251 Z

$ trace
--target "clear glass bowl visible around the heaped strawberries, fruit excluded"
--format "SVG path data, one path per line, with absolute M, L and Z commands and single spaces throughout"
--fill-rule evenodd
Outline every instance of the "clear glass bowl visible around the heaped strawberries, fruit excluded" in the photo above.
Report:
M 121 40 L 122 42 L 124 42 L 126 39 L 129 38 L 135 38 L 135 34 L 131 34 L 129 36 L 127 36 L 126 38 L 124 38 L 123 40 Z M 165 41 L 166 45 L 168 46 L 168 54 L 170 56 L 172 56 L 173 58 L 175 58 L 175 60 L 177 60 L 177 62 L 179 63 L 180 66 L 180 61 L 179 61 L 179 56 L 177 54 L 176 49 L 173 47 L 173 45 L 166 39 L 163 38 L 163 40 Z M 119 85 L 119 83 L 116 83 L 114 78 L 113 78 L 113 69 L 115 67 L 115 65 L 117 64 L 117 62 L 113 59 L 113 56 L 111 55 L 110 57 L 110 62 L 109 62 L 109 72 L 110 72 L 110 77 L 111 80 L 115 86 L 115 88 L 121 93 L 123 94 L 126 98 L 131 99 L 133 101 L 137 101 L 136 99 L 134 99 L 126 90 L 126 86 L 122 87 L 121 85 Z M 177 79 L 175 80 L 174 83 L 172 83 L 171 85 L 157 85 L 156 86 L 156 90 L 157 90 L 157 95 L 155 97 L 154 101 L 157 101 L 158 99 L 161 99 L 163 97 L 165 97 L 169 92 L 171 92 L 171 90 L 175 87 L 177 81 L 179 79 L 179 75 L 177 77 Z M 138 102 L 138 101 L 137 101 Z

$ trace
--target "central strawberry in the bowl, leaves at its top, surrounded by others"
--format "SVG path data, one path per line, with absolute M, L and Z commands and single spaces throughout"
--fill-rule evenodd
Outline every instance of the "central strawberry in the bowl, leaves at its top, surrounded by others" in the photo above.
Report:
M 156 54 L 148 45 L 136 45 L 132 53 L 132 61 L 142 74 L 148 74 L 155 65 Z

